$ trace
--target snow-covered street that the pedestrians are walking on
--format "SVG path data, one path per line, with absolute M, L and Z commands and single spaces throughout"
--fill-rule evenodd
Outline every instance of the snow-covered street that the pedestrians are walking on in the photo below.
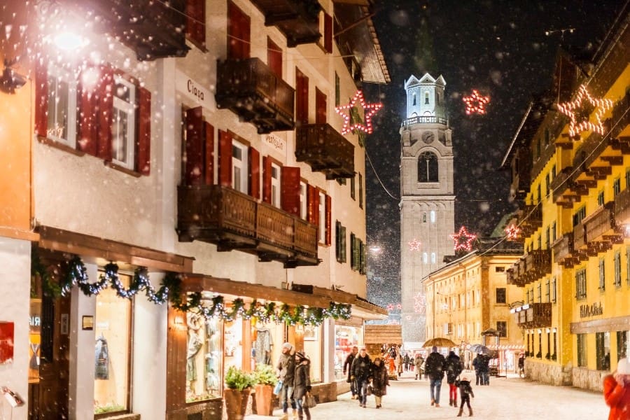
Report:
M 537 382 L 510 377 L 491 377 L 490 386 L 475 386 L 475 398 L 471 405 L 473 416 L 478 419 L 510 420 L 603 420 L 608 418 L 608 407 L 600 393 L 582 391 L 566 386 L 549 386 Z M 390 391 L 383 398 L 383 407 L 374 408 L 374 397 L 367 400 L 367 408 L 361 408 L 350 394 L 339 395 L 335 402 L 319 404 L 312 411 L 313 420 L 323 419 L 451 419 L 458 409 L 449 407 L 449 391 L 446 379 L 442 383 L 440 407 L 430 406 L 428 381 L 416 381 L 409 373 L 398 381 L 391 381 Z M 274 412 L 276 416 L 281 410 Z M 464 409 L 463 416 L 468 416 Z

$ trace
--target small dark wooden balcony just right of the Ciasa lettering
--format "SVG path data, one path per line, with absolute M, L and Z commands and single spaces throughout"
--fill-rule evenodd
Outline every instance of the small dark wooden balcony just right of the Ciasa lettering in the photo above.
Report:
M 215 98 L 260 134 L 295 127 L 295 90 L 259 58 L 219 60 Z

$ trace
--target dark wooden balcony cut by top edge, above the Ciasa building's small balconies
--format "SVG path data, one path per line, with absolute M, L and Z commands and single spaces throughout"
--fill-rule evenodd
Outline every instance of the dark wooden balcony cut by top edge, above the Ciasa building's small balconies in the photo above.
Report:
M 265 15 L 265 26 L 275 26 L 286 36 L 290 48 L 314 43 L 320 37 L 317 0 L 252 0 Z

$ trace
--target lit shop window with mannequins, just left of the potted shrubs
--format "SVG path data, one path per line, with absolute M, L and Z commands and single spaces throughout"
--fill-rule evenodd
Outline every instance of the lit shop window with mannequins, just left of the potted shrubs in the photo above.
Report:
M 220 398 L 223 389 L 223 322 L 188 312 L 186 323 L 186 402 Z

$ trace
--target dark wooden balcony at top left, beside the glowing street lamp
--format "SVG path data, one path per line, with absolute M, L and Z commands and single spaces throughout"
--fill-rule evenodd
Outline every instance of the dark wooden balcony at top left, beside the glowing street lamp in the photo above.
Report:
M 62 0 L 94 20 L 94 29 L 118 38 L 139 60 L 185 57 L 186 1 Z

